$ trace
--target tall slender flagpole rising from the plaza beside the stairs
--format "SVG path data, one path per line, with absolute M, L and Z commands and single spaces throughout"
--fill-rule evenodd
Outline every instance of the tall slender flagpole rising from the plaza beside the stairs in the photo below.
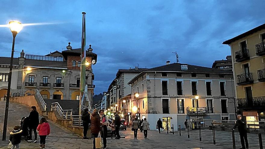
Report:
M 83 19 L 82 19 L 82 33 L 81 33 L 81 35 L 82 35 L 82 37 L 81 37 L 81 56 L 80 56 L 80 59 L 81 59 L 81 67 L 80 67 L 80 82 L 81 82 L 81 84 L 82 84 L 82 81 L 84 81 L 83 80 L 83 78 L 81 77 L 82 75 L 82 57 L 83 57 L 83 50 L 85 50 L 85 49 L 83 49 L 84 48 L 84 18 L 86 17 L 85 15 L 86 15 L 86 13 L 85 12 L 82 12 L 82 14 L 83 14 Z M 82 88 L 81 88 L 81 85 L 80 85 L 80 96 L 79 96 L 79 115 L 81 115 L 81 101 L 82 101 L 82 92 L 81 92 L 81 90 L 82 90 Z

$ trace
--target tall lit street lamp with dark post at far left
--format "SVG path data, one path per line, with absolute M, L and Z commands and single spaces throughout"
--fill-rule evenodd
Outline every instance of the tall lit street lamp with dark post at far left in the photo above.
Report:
M 10 28 L 12 34 L 13 34 L 13 43 L 12 43 L 10 69 L 9 69 L 9 76 L 8 76 L 8 88 L 7 88 L 7 97 L 6 97 L 6 104 L 5 104 L 5 120 L 4 120 L 2 141 L 6 140 L 6 129 L 7 129 L 7 120 L 8 120 L 8 107 L 9 107 L 9 98 L 10 98 L 10 88 L 11 88 L 11 77 L 12 77 L 15 37 L 17 36 L 17 33 L 20 32 L 22 27 L 23 26 L 22 26 L 22 24 L 20 22 L 17 22 L 17 21 L 10 21 L 9 22 L 9 28 Z

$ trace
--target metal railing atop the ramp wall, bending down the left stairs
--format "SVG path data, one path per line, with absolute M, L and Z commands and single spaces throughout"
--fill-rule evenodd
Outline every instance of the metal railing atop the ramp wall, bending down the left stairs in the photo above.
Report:
M 46 111 L 46 103 L 43 100 L 42 96 L 40 95 L 38 89 L 33 89 L 29 91 L 21 91 L 21 92 L 11 92 L 11 97 L 22 97 L 22 96 L 30 96 L 30 95 L 36 95 L 41 106 L 43 107 L 44 111 Z

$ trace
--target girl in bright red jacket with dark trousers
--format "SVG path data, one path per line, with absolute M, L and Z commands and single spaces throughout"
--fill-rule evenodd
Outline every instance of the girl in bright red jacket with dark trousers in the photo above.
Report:
M 40 138 L 39 147 L 45 149 L 46 137 L 47 135 L 50 134 L 50 125 L 45 117 L 42 117 L 40 119 L 37 130 L 39 131 L 39 138 Z

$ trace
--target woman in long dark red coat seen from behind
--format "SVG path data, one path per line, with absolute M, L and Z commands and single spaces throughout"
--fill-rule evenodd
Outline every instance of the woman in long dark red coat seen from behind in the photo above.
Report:
M 91 114 L 90 119 L 91 119 L 91 133 L 92 135 L 94 135 L 93 149 L 95 149 L 96 148 L 95 138 L 98 138 L 98 133 L 101 131 L 100 116 L 98 114 L 98 109 L 93 110 L 93 113 Z

